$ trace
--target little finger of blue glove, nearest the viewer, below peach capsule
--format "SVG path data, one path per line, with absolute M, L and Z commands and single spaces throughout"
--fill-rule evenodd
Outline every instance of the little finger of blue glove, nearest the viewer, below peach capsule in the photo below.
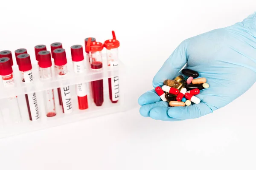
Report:
M 168 110 L 168 115 L 175 119 L 195 119 L 212 113 L 212 109 L 204 102 L 187 107 L 172 107 Z

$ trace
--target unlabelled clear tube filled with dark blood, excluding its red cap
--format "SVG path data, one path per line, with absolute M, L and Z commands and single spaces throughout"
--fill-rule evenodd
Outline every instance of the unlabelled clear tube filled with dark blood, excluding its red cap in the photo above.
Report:
M 90 52 L 90 67 L 93 70 L 102 69 L 102 51 Z M 96 106 L 103 104 L 103 79 L 91 82 L 93 101 Z

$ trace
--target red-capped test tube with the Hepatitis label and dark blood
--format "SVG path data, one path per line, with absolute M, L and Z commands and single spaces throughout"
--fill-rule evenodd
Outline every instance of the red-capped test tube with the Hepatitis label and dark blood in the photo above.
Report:
M 29 54 L 20 54 L 17 56 L 17 62 L 19 63 L 19 70 L 21 74 L 21 80 L 24 83 L 33 82 L 32 65 Z M 35 93 L 25 94 L 26 104 L 29 112 L 29 120 L 35 121 L 40 119 L 38 102 Z

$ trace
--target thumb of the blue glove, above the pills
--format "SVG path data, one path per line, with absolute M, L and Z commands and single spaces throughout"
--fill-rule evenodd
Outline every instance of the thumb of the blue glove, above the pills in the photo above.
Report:
M 166 79 L 173 79 L 180 69 L 186 64 L 186 49 L 188 41 L 183 41 L 163 63 L 163 66 L 157 72 L 153 79 L 153 86 L 163 85 Z

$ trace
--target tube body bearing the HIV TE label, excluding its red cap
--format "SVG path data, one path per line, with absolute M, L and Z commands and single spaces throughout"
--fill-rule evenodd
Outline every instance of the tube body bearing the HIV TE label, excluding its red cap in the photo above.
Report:
M 67 65 L 55 65 L 55 71 L 56 74 L 59 77 L 65 76 L 67 74 Z M 61 88 L 58 88 L 61 97 L 61 103 L 62 103 L 62 112 L 63 113 L 72 113 L 73 108 L 72 108 L 72 103 L 71 103 L 71 94 L 70 94 L 70 87 L 69 86 L 64 86 Z

